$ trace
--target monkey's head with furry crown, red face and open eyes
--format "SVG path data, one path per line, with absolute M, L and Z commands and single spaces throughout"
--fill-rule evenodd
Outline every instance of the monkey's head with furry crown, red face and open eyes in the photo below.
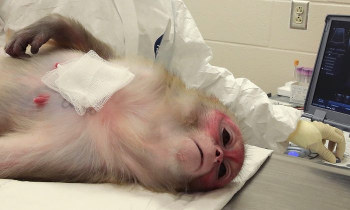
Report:
M 166 147 L 153 150 L 159 155 L 155 168 L 160 171 L 165 165 L 167 178 L 181 177 L 175 188 L 180 191 L 223 187 L 237 176 L 244 160 L 243 139 L 234 116 L 217 99 L 193 94 L 177 95 L 153 130 L 167 142 Z

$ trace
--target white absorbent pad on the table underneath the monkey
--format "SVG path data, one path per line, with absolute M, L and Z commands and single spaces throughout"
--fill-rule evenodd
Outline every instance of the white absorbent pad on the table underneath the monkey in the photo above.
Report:
M 244 172 L 223 188 L 197 193 L 155 193 L 137 184 L 58 183 L 0 179 L 0 209 L 221 209 L 272 150 L 246 145 Z

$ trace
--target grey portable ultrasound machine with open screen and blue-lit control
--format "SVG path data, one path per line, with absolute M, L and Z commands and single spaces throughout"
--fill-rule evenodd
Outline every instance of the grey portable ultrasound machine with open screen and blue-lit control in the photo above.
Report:
M 344 132 L 346 149 L 339 166 L 350 169 L 350 16 L 325 18 L 301 119 L 321 121 Z M 319 158 L 317 153 L 291 144 L 285 153 Z

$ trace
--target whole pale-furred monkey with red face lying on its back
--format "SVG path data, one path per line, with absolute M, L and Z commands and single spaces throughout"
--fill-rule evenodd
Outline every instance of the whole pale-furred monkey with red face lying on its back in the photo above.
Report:
M 54 47 L 25 54 L 50 38 Z M 80 116 L 40 79 L 90 49 L 135 77 L 100 111 Z M 0 178 L 138 182 L 174 192 L 219 188 L 238 174 L 244 146 L 233 113 L 155 63 L 117 58 L 75 20 L 43 17 L 5 51 L 21 59 L 0 59 Z

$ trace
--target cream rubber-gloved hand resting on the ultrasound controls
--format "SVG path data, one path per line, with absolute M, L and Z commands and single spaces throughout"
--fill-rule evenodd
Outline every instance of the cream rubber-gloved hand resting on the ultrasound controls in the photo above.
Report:
M 329 140 L 328 149 L 324 146 Z M 345 152 L 344 134 L 338 128 L 318 121 L 299 120 L 296 129 L 288 136 L 290 142 L 305 149 L 317 152 L 323 159 L 335 163 L 336 157 L 342 159 Z M 332 153 L 336 144 L 335 156 Z

